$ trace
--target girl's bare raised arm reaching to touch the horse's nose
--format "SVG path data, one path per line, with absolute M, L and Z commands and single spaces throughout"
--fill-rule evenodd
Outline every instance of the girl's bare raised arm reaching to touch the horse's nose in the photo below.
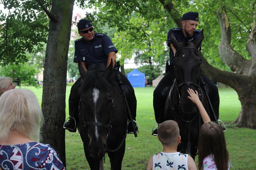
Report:
M 207 114 L 202 102 L 199 100 L 199 97 L 198 97 L 198 93 L 197 91 L 195 90 L 192 90 L 191 88 L 189 88 L 189 90 L 187 90 L 187 92 L 189 93 L 189 96 L 188 98 L 197 105 L 198 109 L 199 109 L 199 112 L 201 114 L 201 117 L 204 121 L 204 123 L 206 122 L 211 122 L 211 119 L 209 117 L 209 115 Z

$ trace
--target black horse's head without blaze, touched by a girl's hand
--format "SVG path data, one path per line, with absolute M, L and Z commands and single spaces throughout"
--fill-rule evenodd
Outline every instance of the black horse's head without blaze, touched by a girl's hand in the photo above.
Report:
M 188 40 L 179 43 L 173 34 L 171 34 L 171 41 L 176 50 L 173 59 L 174 75 L 177 80 L 177 93 L 179 96 L 179 105 L 184 113 L 192 113 L 196 109 L 196 105 L 189 100 L 187 90 L 192 88 L 199 92 L 202 62 L 199 54 L 200 43 L 204 39 L 203 30 L 199 37 L 194 42 Z

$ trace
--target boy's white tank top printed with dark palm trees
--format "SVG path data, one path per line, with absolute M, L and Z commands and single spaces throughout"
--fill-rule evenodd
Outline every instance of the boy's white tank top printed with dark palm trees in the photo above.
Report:
M 188 154 L 160 152 L 153 156 L 153 170 L 189 170 Z

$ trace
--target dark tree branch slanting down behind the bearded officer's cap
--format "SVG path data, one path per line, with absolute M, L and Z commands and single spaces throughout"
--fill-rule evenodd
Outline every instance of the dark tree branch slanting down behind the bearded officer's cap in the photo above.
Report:
M 181 28 L 182 24 L 181 24 L 181 17 L 180 17 L 180 13 L 177 12 L 177 10 L 173 9 L 173 3 L 170 2 L 168 4 L 165 3 L 165 0 L 159 0 L 162 4 L 163 7 L 170 13 L 173 21 L 176 23 L 176 25 Z

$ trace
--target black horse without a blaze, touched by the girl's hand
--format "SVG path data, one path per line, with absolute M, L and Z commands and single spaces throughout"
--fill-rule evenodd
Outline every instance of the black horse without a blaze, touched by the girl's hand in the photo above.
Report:
M 198 49 L 203 38 L 203 30 L 194 42 L 179 43 L 171 35 L 173 47 L 176 49 L 173 59 L 175 79 L 164 101 L 164 120 L 175 120 L 180 128 L 181 143 L 178 150 L 189 153 L 193 158 L 197 153 L 199 130 L 203 122 L 197 106 L 188 98 L 188 88 L 197 90 L 205 110 L 210 113 L 206 93 L 200 82 L 202 60 Z

